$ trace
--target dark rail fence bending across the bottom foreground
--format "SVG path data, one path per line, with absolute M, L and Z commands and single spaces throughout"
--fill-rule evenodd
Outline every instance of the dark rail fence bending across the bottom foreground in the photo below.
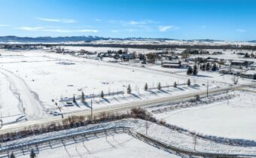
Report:
M 47 138 L 47 139 L 42 139 L 39 141 L 29 141 L 26 144 L 11 144 L 10 146 L 6 148 L 0 148 L 0 157 L 6 157 L 8 154 L 11 152 L 14 153 L 29 153 L 32 148 L 44 148 L 47 145 L 54 145 L 54 144 L 65 144 L 66 142 L 69 141 L 78 141 L 78 137 L 81 136 L 80 140 L 84 140 L 84 138 L 88 138 L 93 135 L 99 135 L 99 134 L 106 134 L 108 132 L 116 132 L 116 133 L 121 133 L 125 132 L 128 135 L 133 136 L 134 138 L 138 138 L 141 141 L 144 141 L 147 144 L 151 144 L 155 147 L 162 148 L 163 150 L 169 150 L 170 153 L 175 153 L 177 155 L 183 155 L 183 156 L 203 156 L 203 157 L 248 157 L 248 156 L 255 156 L 256 155 L 247 155 L 247 154 L 230 154 L 230 153 L 203 153 L 199 151 L 193 151 L 193 150 L 184 150 L 178 147 L 175 147 L 170 144 L 165 144 L 161 141 L 157 141 L 154 138 L 149 137 L 148 135 L 143 135 L 142 133 L 139 132 L 133 132 L 130 130 L 129 127 L 125 126 L 117 126 L 117 127 L 112 127 L 109 129 L 98 129 L 98 130 L 93 130 L 93 131 L 87 131 L 87 132 L 78 132 L 76 134 L 70 134 L 70 135 L 61 135 L 59 137 L 55 138 Z M 24 151 L 25 150 L 25 151 Z

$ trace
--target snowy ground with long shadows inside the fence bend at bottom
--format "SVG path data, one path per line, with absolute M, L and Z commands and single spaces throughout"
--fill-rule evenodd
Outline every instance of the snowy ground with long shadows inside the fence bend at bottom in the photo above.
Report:
M 20 155 L 17 157 L 28 157 Z M 67 158 L 67 157 L 179 157 L 164 150 L 145 144 L 127 134 L 95 137 L 78 143 L 67 143 L 66 146 L 40 150 L 38 158 Z

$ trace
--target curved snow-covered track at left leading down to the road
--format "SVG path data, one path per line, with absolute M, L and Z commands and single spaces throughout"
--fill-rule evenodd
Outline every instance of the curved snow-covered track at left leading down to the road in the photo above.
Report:
M 20 98 L 20 105 L 25 109 L 27 120 L 40 120 L 47 116 L 40 101 L 22 78 L 5 68 L 0 68 L 0 73 L 5 74 L 12 87 L 14 87 L 13 93 L 17 93 Z

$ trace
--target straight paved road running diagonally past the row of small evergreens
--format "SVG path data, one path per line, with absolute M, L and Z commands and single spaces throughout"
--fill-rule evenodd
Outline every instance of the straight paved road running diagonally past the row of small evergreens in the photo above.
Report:
M 212 89 L 209 90 L 209 94 L 214 94 L 214 93 L 224 93 L 227 92 L 229 90 L 240 90 L 243 87 L 248 87 L 248 86 L 252 86 L 252 85 L 256 85 L 256 83 L 250 83 L 250 84 L 239 84 L 239 85 L 235 85 L 232 87 L 224 87 L 224 88 L 218 88 L 218 89 Z M 138 108 L 138 107 L 148 107 L 151 105 L 159 105 L 162 103 L 166 103 L 166 102 L 174 102 L 174 101 L 178 101 L 178 100 L 182 100 L 182 99 L 190 99 L 190 98 L 194 98 L 194 96 L 196 95 L 200 95 L 200 96 L 206 96 L 206 90 L 202 90 L 198 93 L 186 93 L 186 94 L 181 94 L 178 96 L 168 96 L 168 97 L 163 97 L 163 98 L 159 98 L 159 99 L 148 99 L 146 101 L 139 101 L 139 102 L 129 102 L 129 103 L 125 103 L 125 104 L 120 104 L 120 105 L 113 105 L 113 106 L 108 106 L 105 108 L 96 108 L 95 110 L 93 110 L 93 114 L 94 115 L 98 115 L 101 114 L 102 112 L 121 112 L 121 111 L 128 111 L 132 108 Z M 33 108 L 33 107 L 31 107 Z M 39 112 L 40 114 L 40 112 Z M 90 110 L 86 110 L 86 111 L 78 111 L 78 112 L 74 112 L 71 114 L 65 114 L 64 117 L 69 117 L 72 115 L 76 115 L 76 116 L 90 116 Z M 3 126 L 2 129 L 0 129 L 0 134 L 5 133 L 5 132 L 14 132 L 17 130 L 21 130 L 24 127 L 29 127 L 29 126 L 34 126 L 34 125 L 49 125 L 50 123 L 59 123 L 62 121 L 61 117 L 48 117 L 48 118 L 44 118 L 39 120 L 29 120 L 25 123 L 17 123 L 17 124 L 11 124 L 11 125 L 6 125 Z

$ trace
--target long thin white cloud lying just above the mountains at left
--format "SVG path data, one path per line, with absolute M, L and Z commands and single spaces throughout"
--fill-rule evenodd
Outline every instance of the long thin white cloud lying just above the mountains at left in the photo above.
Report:
M 16 29 L 23 29 L 32 32 L 59 32 L 59 33 L 72 33 L 72 32 L 99 32 L 96 29 L 46 29 L 44 27 L 19 27 Z

